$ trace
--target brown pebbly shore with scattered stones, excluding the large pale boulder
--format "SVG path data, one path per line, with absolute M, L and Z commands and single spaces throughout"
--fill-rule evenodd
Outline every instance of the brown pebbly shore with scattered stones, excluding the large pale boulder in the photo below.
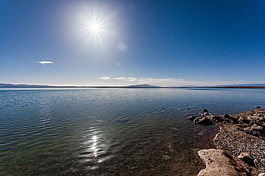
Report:
M 220 128 L 214 144 L 230 154 L 248 175 L 265 172 L 265 109 L 234 115 L 205 113 Z

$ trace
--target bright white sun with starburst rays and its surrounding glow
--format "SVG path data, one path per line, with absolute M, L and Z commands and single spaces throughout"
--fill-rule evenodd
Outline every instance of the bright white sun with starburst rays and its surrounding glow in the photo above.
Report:
M 107 56 L 115 49 L 123 34 L 118 20 L 119 11 L 113 10 L 111 6 L 111 3 L 97 1 L 77 4 L 77 11 L 71 16 L 73 23 L 67 32 L 75 37 L 71 38 L 71 42 L 76 43 L 78 50 Z

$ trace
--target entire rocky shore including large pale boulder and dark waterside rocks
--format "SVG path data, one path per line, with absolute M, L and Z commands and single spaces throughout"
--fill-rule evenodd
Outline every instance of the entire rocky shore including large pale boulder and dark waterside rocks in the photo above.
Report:
M 234 115 L 214 115 L 204 109 L 199 115 L 188 119 L 215 124 L 220 131 L 214 138 L 217 149 L 198 151 L 206 164 L 198 175 L 217 175 L 217 170 L 218 175 L 265 175 L 265 109 Z

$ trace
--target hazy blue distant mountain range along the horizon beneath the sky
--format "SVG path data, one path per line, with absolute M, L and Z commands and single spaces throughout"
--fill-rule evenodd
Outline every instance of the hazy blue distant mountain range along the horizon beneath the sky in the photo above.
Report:
M 28 85 L 28 84 L 7 84 L 0 83 L 0 87 L 78 87 L 78 86 L 50 86 L 50 85 Z M 81 86 L 82 87 L 82 86 Z M 149 84 L 137 84 L 129 86 L 84 86 L 84 87 L 141 87 L 141 88 L 163 88 L 162 86 L 149 85 Z M 255 83 L 255 84 L 226 84 L 226 85 L 181 85 L 181 86 L 167 86 L 170 88 L 180 88 L 180 87 L 265 87 L 265 83 Z

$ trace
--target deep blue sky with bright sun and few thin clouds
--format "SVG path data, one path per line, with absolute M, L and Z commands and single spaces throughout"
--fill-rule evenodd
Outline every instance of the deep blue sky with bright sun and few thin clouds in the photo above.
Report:
M 264 1 L 0 1 L 0 82 L 265 82 Z

